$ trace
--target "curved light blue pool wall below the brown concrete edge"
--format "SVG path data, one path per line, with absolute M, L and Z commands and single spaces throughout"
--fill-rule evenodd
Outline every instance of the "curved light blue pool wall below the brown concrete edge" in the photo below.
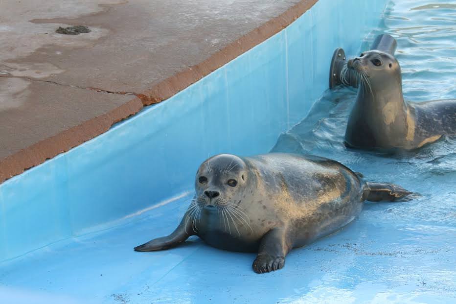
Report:
M 192 191 L 209 155 L 268 152 L 328 89 L 334 49 L 358 53 L 386 2 L 319 0 L 179 94 L 1 184 L 0 261 Z

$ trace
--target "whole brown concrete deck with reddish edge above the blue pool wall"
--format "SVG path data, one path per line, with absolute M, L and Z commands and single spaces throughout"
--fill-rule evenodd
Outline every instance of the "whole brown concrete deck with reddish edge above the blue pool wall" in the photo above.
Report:
M 61 132 L 93 119 L 96 124 L 114 110 L 117 120 L 133 115 L 140 110 L 137 98 L 122 113 L 118 107 L 135 95 L 143 105 L 168 98 L 315 2 L 1 1 L 0 182 L 100 134 L 80 128 L 73 141 L 60 145 Z M 55 32 L 70 25 L 86 25 L 91 32 Z M 52 151 L 27 155 L 43 141 Z

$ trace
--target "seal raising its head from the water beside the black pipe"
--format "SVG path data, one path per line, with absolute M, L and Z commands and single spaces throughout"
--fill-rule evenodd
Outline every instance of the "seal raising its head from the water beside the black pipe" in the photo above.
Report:
M 345 132 L 347 146 L 413 150 L 444 135 L 456 135 L 456 99 L 405 101 L 401 67 L 391 54 L 367 51 L 349 60 L 347 67 L 359 82 Z

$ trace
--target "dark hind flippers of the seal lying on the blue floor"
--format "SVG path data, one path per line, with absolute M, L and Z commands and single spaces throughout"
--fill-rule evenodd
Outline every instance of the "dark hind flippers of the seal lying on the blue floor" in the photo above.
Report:
M 386 183 L 366 183 L 364 188 L 365 200 L 371 202 L 406 201 L 411 199 L 408 196 L 412 193 L 403 187 Z

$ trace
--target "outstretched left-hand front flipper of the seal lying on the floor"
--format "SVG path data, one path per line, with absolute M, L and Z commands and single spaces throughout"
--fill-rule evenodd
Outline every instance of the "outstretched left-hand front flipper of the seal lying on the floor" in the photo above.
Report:
M 188 212 L 187 212 L 188 213 Z M 195 232 L 191 227 L 191 221 L 187 219 L 187 213 L 182 218 L 179 226 L 172 234 L 155 238 L 145 244 L 135 247 L 135 251 L 159 251 L 175 247 L 185 241 L 189 236 L 194 235 Z

